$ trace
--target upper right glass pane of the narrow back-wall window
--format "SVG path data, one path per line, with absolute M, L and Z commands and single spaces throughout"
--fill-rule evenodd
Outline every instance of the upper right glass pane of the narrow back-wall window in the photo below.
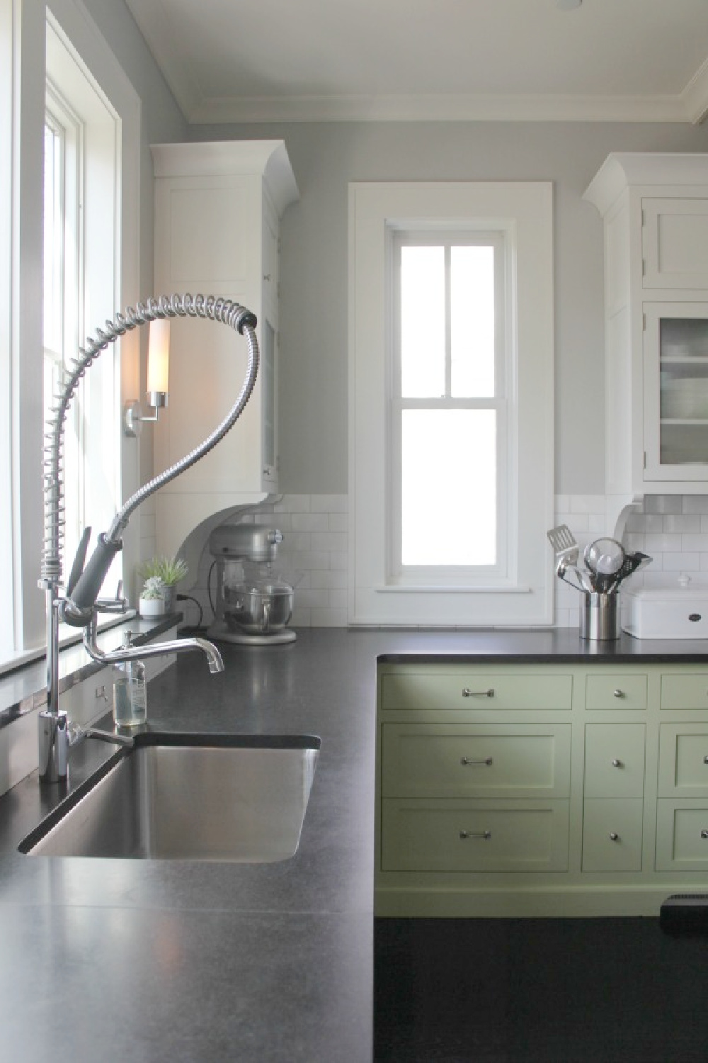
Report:
M 493 247 L 450 249 L 451 392 L 495 393 L 495 255 Z

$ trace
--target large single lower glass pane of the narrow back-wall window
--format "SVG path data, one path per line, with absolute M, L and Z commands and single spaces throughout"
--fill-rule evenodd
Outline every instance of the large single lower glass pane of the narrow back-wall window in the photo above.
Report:
M 402 411 L 403 564 L 496 563 L 496 418 L 491 409 Z

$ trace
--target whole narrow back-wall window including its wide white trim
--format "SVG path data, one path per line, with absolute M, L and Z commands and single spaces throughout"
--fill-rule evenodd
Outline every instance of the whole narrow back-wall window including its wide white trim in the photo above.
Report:
M 551 186 L 357 183 L 349 212 L 349 623 L 551 623 Z

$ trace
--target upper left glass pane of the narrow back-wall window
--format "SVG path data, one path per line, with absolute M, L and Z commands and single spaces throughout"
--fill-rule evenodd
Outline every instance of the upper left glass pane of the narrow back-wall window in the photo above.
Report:
M 445 393 L 445 249 L 401 248 L 401 394 Z

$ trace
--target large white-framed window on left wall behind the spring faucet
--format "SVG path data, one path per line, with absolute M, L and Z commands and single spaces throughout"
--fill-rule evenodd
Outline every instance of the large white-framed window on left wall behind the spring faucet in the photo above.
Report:
M 0 508 L 7 518 L 0 522 L 7 577 L 1 672 L 44 654 L 37 580 L 45 382 L 49 395 L 50 377 L 56 383 L 85 330 L 138 299 L 140 100 L 74 0 L 48 0 L 46 9 L 0 3 L 0 140 L 7 147 L 0 156 Z M 137 334 L 120 347 L 127 393 L 137 394 Z M 73 516 L 65 575 L 84 514 L 103 530 L 121 494 L 138 486 L 139 453 L 123 449 L 120 437 L 120 373 L 109 349 L 70 410 L 65 469 Z M 124 537 L 128 569 L 137 537 L 137 529 Z M 106 590 L 115 591 L 113 575 Z

